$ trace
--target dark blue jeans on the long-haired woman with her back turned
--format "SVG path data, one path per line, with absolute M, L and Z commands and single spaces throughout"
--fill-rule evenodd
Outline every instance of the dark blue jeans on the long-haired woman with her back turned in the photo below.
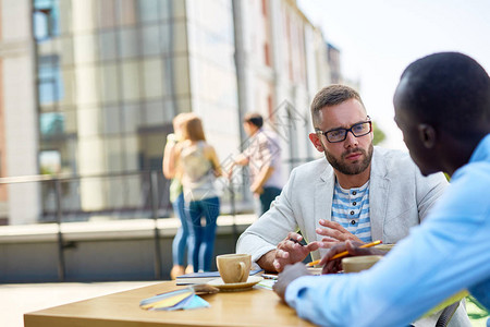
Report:
M 215 251 L 217 219 L 220 215 L 220 199 L 209 197 L 192 201 L 187 204 L 191 218 L 188 255 L 193 258 L 194 271 L 209 271 Z M 201 225 L 201 217 L 206 218 L 206 226 Z

